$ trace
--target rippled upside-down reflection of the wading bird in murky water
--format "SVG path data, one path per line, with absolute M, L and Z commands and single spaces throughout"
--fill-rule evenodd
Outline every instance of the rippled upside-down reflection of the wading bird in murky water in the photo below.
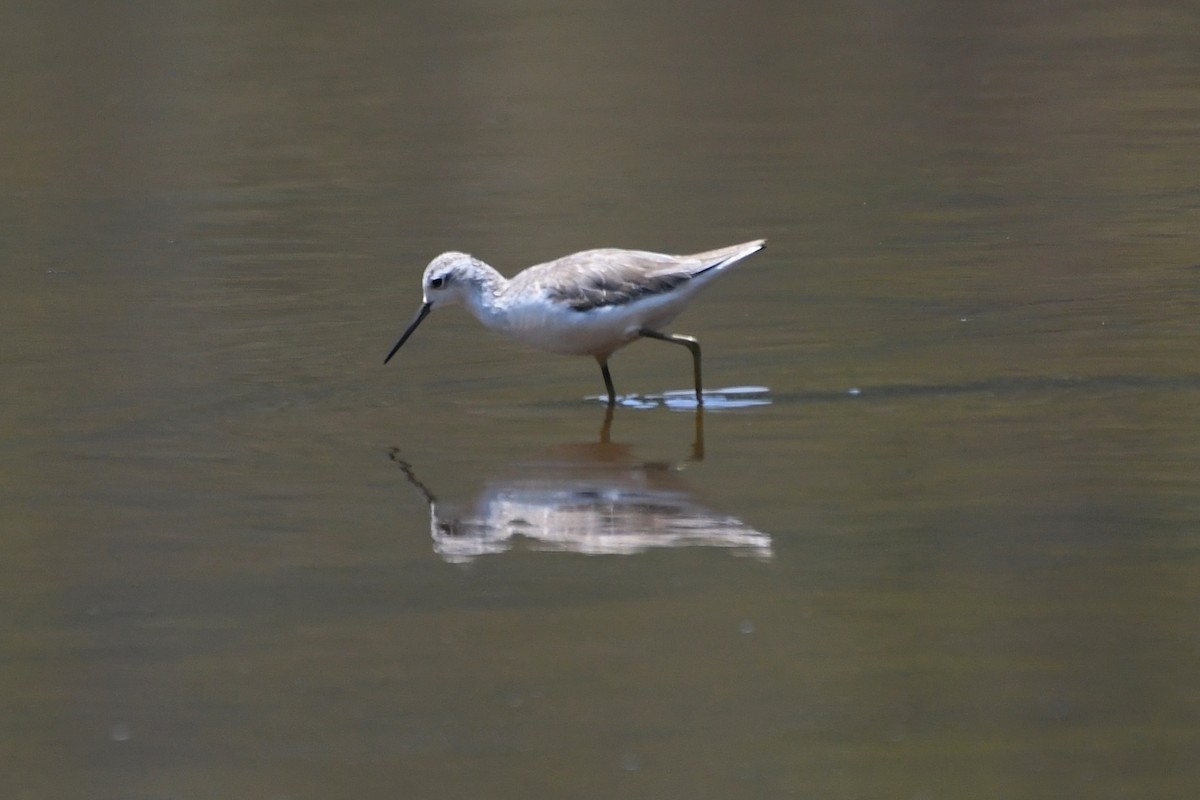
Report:
M 466 512 L 440 503 L 397 449 L 391 459 L 428 504 L 433 549 L 450 563 L 503 553 L 522 540 L 534 549 L 587 555 L 722 547 L 772 558 L 769 535 L 698 505 L 680 480 L 688 463 L 704 457 L 701 409 L 691 453 L 678 464 L 638 461 L 629 445 L 612 443 L 612 414 L 608 408 L 599 441 L 512 464 L 512 475 L 490 479 Z

